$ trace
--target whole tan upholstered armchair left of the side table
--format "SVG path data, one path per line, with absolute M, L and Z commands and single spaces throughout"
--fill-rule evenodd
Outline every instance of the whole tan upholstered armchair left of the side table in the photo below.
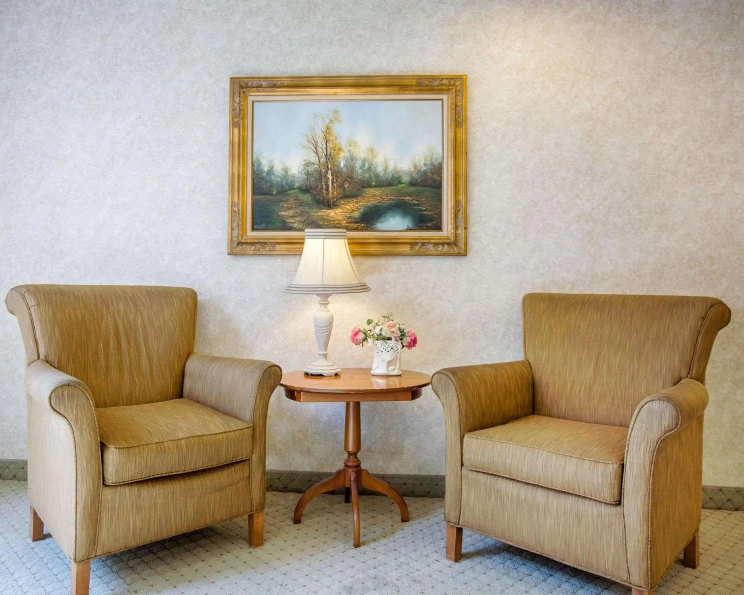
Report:
M 281 370 L 193 353 L 196 292 L 10 290 L 26 351 L 31 539 L 90 561 L 248 514 L 263 543 L 266 411 Z

